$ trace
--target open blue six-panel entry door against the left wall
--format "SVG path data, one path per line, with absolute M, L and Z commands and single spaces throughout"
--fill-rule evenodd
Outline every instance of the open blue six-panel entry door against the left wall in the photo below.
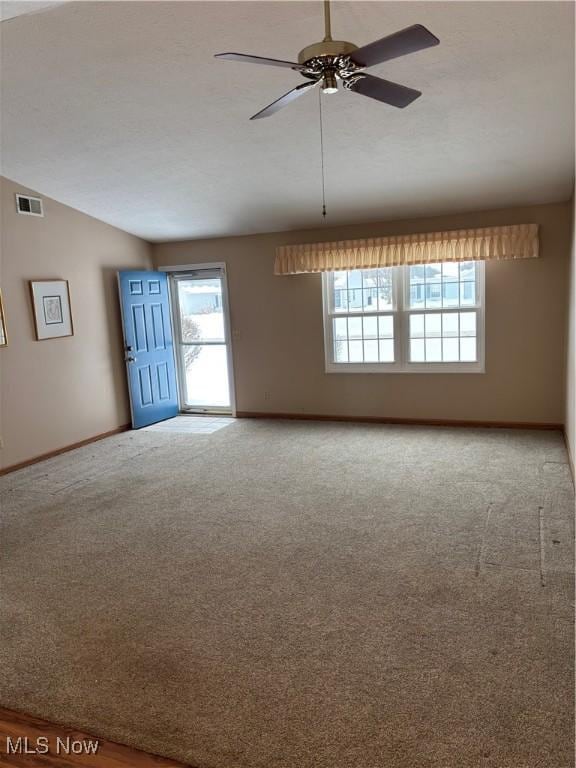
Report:
M 170 294 L 164 272 L 118 272 L 132 426 L 178 414 Z

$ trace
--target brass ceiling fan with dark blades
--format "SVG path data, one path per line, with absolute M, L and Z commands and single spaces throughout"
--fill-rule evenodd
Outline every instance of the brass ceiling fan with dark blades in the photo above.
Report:
M 421 24 L 413 24 L 399 32 L 383 37 L 358 48 L 345 40 L 332 40 L 330 25 L 330 0 L 324 0 L 324 40 L 306 46 L 298 54 L 298 62 L 268 59 L 263 56 L 249 56 L 245 53 L 217 53 L 217 59 L 244 61 L 249 64 L 267 64 L 272 67 L 286 67 L 300 72 L 308 82 L 301 83 L 272 104 L 252 115 L 251 120 L 269 117 L 303 93 L 321 85 L 324 93 L 336 93 L 338 80 L 344 88 L 362 96 L 368 96 L 393 107 L 407 107 L 420 91 L 405 85 L 374 77 L 363 72 L 366 67 L 396 59 L 408 53 L 438 45 L 440 40 Z

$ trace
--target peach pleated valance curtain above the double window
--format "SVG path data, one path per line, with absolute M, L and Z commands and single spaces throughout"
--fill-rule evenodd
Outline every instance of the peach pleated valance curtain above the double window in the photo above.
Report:
M 297 275 L 341 269 L 376 269 L 439 261 L 530 259 L 538 256 L 538 225 L 458 229 L 333 243 L 283 245 L 274 272 Z

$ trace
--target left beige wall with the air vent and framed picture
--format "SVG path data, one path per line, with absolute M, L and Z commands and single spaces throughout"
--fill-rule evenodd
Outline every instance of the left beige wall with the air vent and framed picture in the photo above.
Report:
M 147 268 L 150 246 L 42 195 L 44 218 L 16 213 L 1 180 L 0 467 L 129 422 L 116 270 Z M 74 336 L 36 341 L 28 281 L 70 283 Z

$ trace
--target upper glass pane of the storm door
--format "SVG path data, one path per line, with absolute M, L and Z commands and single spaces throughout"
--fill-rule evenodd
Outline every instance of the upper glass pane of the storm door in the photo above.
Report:
M 221 281 L 178 280 L 177 285 L 182 341 L 224 341 Z

